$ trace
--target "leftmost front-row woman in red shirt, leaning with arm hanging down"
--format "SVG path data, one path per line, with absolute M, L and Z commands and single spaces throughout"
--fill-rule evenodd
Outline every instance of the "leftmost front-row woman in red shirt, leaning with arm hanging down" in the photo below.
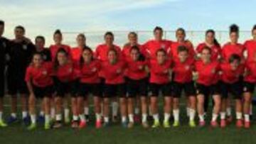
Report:
M 41 52 L 33 55 L 31 65 L 26 70 L 26 84 L 30 93 L 28 104 L 31 125 L 28 130 L 36 128 L 36 99 L 43 99 L 45 111 L 45 129 L 50 128 L 50 96 L 53 94 L 53 67 L 51 62 L 43 62 Z

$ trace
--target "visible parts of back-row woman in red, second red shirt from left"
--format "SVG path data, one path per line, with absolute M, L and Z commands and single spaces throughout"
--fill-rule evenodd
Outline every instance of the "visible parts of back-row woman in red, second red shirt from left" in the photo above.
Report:
M 88 49 L 86 45 L 86 38 L 83 33 L 78 34 L 77 38 L 78 46 L 71 49 L 73 62 L 78 63 L 80 62 L 80 59 L 82 57 L 82 51 L 86 48 Z M 89 48 L 90 49 L 90 48 Z M 84 113 L 85 113 L 85 119 L 86 121 L 89 121 L 89 101 L 87 99 L 87 96 L 84 97 L 85 104 L 84 104 Z

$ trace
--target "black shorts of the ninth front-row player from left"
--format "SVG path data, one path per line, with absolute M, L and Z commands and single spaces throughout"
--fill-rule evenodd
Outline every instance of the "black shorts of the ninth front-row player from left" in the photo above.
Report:
M 233 84 L 220 82 L 220 92 L 223 99 L 228 98 L 228 94 L 232 94 L 234 99 L 242 98 L 242 82 L 238 81 Z

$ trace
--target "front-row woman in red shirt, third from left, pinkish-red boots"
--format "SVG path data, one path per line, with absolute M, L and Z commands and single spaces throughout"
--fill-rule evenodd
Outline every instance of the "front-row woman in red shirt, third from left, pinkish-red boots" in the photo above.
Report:
M 78 113 L 80 115 L 80 128 L 86 126 L 85 115 L 83 113 L 84 101 L 88 99 L 89 94 L 93 95 L 96 123 L 95 127 L 101 127 L 101 97 L 102 89 L 100 87 L 99 72 L 101 69 L 100 61 L 93 58 L 93 52 L 90 48 L 83 48 L 82 57 L 80 57 L 80 86 L 78 90 Z

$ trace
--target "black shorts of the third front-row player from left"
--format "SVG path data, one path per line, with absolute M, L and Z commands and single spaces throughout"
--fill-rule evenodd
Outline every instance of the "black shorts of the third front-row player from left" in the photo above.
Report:
M 88 96 L 89 94 L 92 94 L 93 96 L 102 96 L 102 89 L 100 84 L 86 84 L 86 83 L 80 83 L 79 84 L 79 90 L 78 90 L 78 96 Z

